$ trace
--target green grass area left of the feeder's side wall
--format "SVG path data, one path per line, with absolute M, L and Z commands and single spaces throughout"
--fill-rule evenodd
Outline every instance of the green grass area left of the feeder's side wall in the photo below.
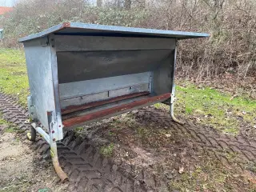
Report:
M 29 84 L 22 50 L 0 49 L 0 91 L 18 97 L 26 106 Z

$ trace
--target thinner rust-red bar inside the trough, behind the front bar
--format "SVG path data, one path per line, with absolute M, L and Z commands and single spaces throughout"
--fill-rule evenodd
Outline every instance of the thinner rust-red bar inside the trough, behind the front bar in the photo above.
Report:
M 70 114 L 72 112 L 78 111 L 78 110 L 86 110 L 88 108 L 94 107 L 94 106 L 102 106 L 111 102 L 118 102 L 127 98 L 135 98 L 138 96 L 142 96 L 142 95 L 146 95 L 146 94 L 150 94 L 150 92 L 146 91 L 146 92 L 142 92 L 142 93 L 138 93 L 138 94 L 126 94 L 123 96 L 119 96 L 116 98 L 111 98 L 108 100 L 104 100 L 101 102 L 90 102 L 90 103 L 86 103 L 85 105 L 82 106 L 68 106 L 66 107 L 66 109 L 62 110 L 62 114 Z

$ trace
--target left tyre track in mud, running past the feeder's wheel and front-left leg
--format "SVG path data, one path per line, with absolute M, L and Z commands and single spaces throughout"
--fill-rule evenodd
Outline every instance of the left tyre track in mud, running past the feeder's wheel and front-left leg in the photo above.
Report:
M 0 110 L 7 121 L 24 132 L 30 130 L 30 124 L 26 123 L 27 111 L 13 98 L 0 93 Z M 25 134 L 23 138 L 26 138 Z M 50 147 L 42 138 L 38 138 L 35 149 L 44 158 L 50 158 Z M 62 142 L 58 143 L 58 157 L 70 178 L 68 191 L 148 191 L 141 182 L 143 178 L 134 179 L 134 175 L 103 158 L 89 141 L 76 138 L 72 131 L 66 132 Z

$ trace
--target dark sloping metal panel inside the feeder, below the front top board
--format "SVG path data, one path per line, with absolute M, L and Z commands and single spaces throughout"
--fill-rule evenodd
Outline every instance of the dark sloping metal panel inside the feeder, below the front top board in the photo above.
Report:
M 59 83 L 80 82 L 152 71 L 172 50 L 110 50 L 58 52 Z

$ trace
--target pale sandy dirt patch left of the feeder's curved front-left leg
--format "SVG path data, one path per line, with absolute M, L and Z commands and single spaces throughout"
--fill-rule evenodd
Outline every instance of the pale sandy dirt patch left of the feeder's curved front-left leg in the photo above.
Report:
M 1 126 L 1 125 L 0 125 Z M 1 129 L 0 129 L 1 130 Z M 0 137 L 0 191 L 66 191 L 67 184 L 60 184 L 49 161 L 40 159 L 31 143 L 21 140 L 15 133 Z

